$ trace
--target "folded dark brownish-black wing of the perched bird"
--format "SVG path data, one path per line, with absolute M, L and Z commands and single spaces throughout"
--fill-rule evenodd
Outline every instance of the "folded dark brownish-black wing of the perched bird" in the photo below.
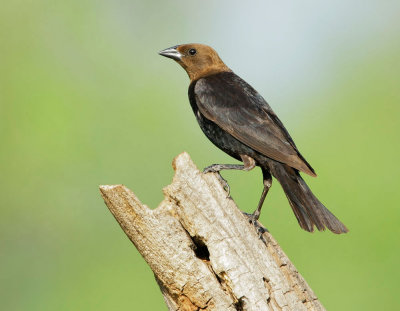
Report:
M 271 107 L 233 72 L 199 79 L 194 94 L 200 112 L 233 137 L 271 159 L 316 176 Z

